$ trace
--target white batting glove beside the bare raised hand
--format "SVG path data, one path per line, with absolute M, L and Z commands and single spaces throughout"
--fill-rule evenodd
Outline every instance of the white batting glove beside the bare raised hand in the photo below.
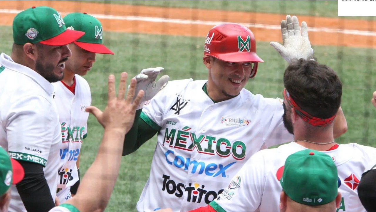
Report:
M 141 99 L 141 103 L 138 105 L 137 110 L 143 108 L 145 102 L 151 100 L 161 87 L 170 79 L 169 76 L 164 75 L 155 82 L 158 74 L 161 73 L 163 69 L 164 68 L 162 67 L 146 68 L 134 77 L 137 80 L 135 94 L 140 90 L 144 91 L 144 97 Z

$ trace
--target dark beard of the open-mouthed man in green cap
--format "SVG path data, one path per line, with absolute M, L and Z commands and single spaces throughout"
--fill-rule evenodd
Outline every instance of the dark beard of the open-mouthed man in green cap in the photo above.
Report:
M 67 59 L 68 58 L 64 58 L 59 61 L 59 63 L 67 61 Z M 45 59 L 43 55 L 41 55 L 41 57 L 39 57 L 38 60 L 35 61 L 35 71 L 39 73 L 44 79 L 46 79 L 50 83 L 53 83 L 58 82 L 64 78 L 64 73 L 60 77 L 53 72 L 57 64 L 44 64 L 44 62 Z

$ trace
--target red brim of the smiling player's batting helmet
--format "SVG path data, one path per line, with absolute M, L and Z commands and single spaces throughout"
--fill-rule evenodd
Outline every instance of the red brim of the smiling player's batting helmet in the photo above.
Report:
M 264 62 L 255 52 L 219 53 L 212 56 L 226 62 Z

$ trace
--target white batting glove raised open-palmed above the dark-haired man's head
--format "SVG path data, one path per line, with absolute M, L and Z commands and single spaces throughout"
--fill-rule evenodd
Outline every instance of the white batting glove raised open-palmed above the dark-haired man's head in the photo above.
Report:
M 278 42 L 270 42 L 270 45 L 289 63 L 291 59 L 294 58 L 307 59 L 313 56 L 313 49 L 308 39 L 307 28 L 307 23 L 303 21 L 302 33 L 300 33 L 298 18 L 296 16 L 291 18 L 290 15 L 287 15 L 286 20 L 281 21 L 283 45 Z

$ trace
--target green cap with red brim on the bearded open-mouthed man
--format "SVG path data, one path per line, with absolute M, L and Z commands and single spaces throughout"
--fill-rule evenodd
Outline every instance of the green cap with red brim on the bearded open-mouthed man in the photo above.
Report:
M 67 30 L 59 12 L 47 6 L 33 6 L 18 13 L 13 20 L 13 41 L 20 45 L 28 42 L 67 45 L 84 34 L 85 32 Z

